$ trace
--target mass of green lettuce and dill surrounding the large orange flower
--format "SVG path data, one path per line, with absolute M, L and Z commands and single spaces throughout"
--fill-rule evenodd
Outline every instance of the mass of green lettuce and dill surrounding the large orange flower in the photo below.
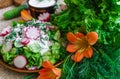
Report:
M 52 15 L 51 22 L 66 36 L 68 32 L 96 31 L 98 42 L 91 59 L 75 63 L 68 56 L 62 65 L 61 79 L 120 78 L 119 0 L 65 0 L 67 9 Z

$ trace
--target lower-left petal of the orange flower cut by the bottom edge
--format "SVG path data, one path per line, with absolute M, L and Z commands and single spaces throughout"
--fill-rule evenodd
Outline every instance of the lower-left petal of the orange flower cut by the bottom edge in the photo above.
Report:
M 40 76 L 37 79 L 56 79 L 56 75 L 49 68 L 43 68 L 39 71 Z

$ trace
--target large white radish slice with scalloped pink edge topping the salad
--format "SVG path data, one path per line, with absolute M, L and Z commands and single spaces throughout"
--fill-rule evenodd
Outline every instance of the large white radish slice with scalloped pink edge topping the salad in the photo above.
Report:
M 40 30 L 36 27 L 30 27 L 26 29 L 26 38 L 36 40 L 40 36 Z

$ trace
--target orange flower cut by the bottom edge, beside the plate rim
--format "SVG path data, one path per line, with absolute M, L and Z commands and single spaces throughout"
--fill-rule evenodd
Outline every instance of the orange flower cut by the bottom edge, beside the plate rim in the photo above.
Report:
M 61 69 L 56 68 L 51 62 L 45 61 L 44 67 L 39 71 L 40 76 L 37 79 L 59 79 L 61 76 Z

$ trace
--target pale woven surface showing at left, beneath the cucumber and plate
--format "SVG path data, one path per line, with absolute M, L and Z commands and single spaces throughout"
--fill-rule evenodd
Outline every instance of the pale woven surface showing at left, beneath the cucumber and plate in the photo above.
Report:
M 4 20 L 3 19 L 3 13 L 14 8 L 14 6 L 10 6 L 4 9 L 0 9 L 0 31 L 9 25 L 11 25 L 11 22 L 13 20 L 19 20 L 21 19 L 20 17 L 11 19 L 11 20 Z M 11 71 L 4 66 L 0 65 L 0 79 L 23 79 L 25 76 L 28 76 L 29 74 L 24 74 L 24 73 L 18 73 Z M 33 78 L 36 79 L 36 78 Z

